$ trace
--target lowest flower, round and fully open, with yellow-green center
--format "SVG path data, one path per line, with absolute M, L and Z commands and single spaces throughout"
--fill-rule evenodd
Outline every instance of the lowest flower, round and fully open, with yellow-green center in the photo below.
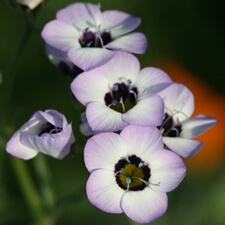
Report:
M 84 161 L 91 173 L 86 185 L 89 201 L 139 223 L 150 223 L 166 212 L 166 192 L 186 175 L 182 159 L 163 149 L 155 127 L 129 125 L 120 135 L 97 134 L 85 145 Z

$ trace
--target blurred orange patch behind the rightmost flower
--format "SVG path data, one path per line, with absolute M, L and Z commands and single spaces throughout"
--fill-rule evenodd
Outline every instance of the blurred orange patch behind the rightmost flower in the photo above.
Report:
M 166 60 L 157 65 L 167 72 L 174 82 L 186 85 L 194 94 L 195 111 L 217 118 L 218 122 L 196 139 L 203 142 L 203 148 L 190 159 L 185 159 L 187 168 L 194 173 L 210 173 L 225 162 L 225 96 L 216 92 L 203 80 L 196 77 L 186 68 L 177 63 Z

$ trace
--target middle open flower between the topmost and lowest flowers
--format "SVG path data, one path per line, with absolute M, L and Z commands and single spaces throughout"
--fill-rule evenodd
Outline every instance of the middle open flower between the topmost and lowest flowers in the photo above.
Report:
M 107 64 L 78 75 L 71 83 L 75 97 L 85 106 L 94 132 L 117 131 L 128 124 L 159 126 L 164 115 L 156 95 L 172 83 L 162 70 L 140 71 L 136 57 L 118 52 Z

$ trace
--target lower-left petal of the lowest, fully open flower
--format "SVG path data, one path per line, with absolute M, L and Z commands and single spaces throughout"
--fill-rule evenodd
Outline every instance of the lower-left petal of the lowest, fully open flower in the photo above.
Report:
M 120 201 L 124 190 L 117 185 L 113 171 L 94 171 L 86 190 L 89 201 L 97 208 L 108 213 L 122 213 Z

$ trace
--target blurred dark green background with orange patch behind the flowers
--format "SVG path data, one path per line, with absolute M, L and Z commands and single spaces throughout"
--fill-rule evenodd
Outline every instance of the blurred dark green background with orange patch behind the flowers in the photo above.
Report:
M 45 55 L 40 36 L 43 26 L 72 0 L 46 0 L 37 14 L 36 30 L 15 63 L 15 52 L 25 31 L 23 9 L 10 7 L 16 1 L 0 1 L 0 224 L 136 224 L 124 214 L 104 213 L 91 205 L 85 183 L 89 176 L 84 163 L 84 138 L 79 132 L 84 110 L 70 91 L 65 76 Z M 80 1 L 82 2 L 82 1 Z M 216 117 L 218 123 L 201 135 L 203 149 L 185 160 L 187 176 L 168 193 L 167 213 L 154 225 L 225 224 L 225 1 L 224 0 L 90 0 L 101 3 L 102 10 L 117 9 L 142 18 L 137 31 L 146 34 L 145 55 L 137 55 L 142 67 L 157 66 L 174 81 L 184 83 L 195 95 L 194 115 Z M 29 14 L 32 17 L 32 15 Z M 134 45 L 137 43 L 134 43 Z M 4 79 L 11 84 L 11 102 L 6 103 Z M 6 91 L 7 92 L 7 91 Z M 78 147 L 73 155 L 59 161 L 38 156 L 25 162 L 41 192 L 38 173 L 47 166 L 48 184 L 54 194 L 54 207 L 44 212 L 43 220 L 31 212 L 18 177 L 18 161 L 6 153 L 7 138 L 36 110 L 56 109 L 72 121 Z M 7 114 L 3 114 L 7 111 Z M 7 115 L 7 118 L 5 118 Z M 42 157 L 42 158 L 41 158 Z M 43 158 L 44 157 L 44 158 Z M 43 164 L 43 160 L 45 164 Z M 39 172 L 37 172 L 39 171 Z M 41 173 L 41 172 L 40 172 Z

